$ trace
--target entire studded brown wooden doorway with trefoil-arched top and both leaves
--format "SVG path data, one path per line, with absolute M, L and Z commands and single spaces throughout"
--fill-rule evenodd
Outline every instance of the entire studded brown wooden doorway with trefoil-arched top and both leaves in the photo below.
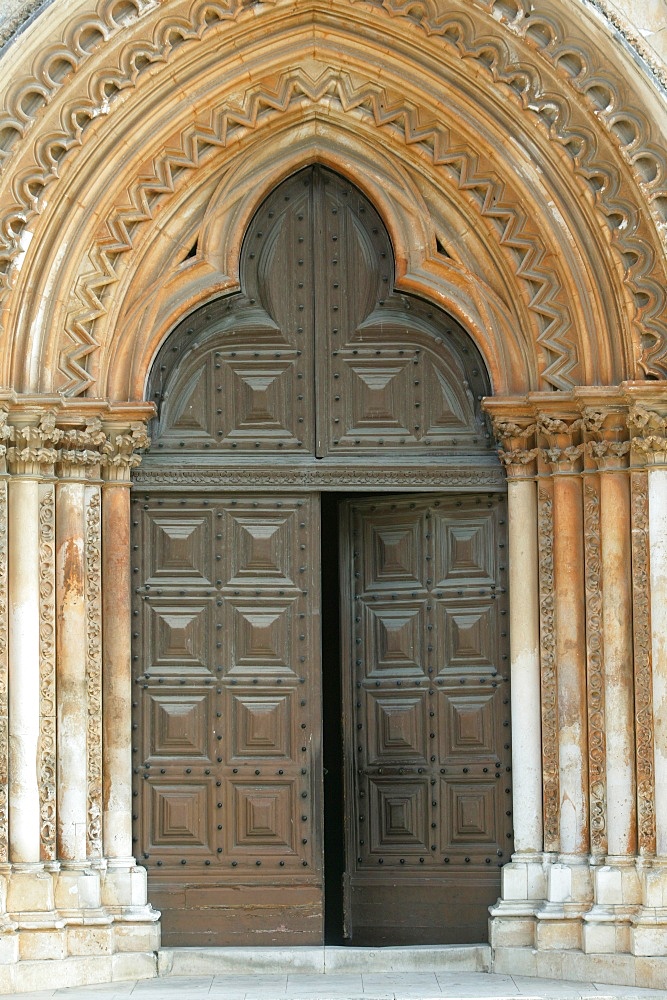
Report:
M 325 897 L 331 941 L 484 940 L 509 677 L 472 340 L 396 291 L 380 216 L 315 165 L 150 391 L 133 818 L 164 943 L 320 943 Z

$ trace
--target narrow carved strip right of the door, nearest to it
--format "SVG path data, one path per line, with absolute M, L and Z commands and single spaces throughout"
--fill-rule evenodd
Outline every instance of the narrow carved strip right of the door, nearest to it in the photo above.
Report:
M 560 768 L 558 759 L 558 688 L 554 602 L 554 518 L 553 498 L 546 486 L 539 488 L 537 503 L 544 849 L 545 851 L 557 852 L 560 843 Z

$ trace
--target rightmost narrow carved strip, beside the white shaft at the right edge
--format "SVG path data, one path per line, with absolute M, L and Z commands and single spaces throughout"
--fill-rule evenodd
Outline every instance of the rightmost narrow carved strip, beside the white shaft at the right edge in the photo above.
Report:
M 639 853 L 656 849 L 653 767 L 653 667 L 648 536 L 648 473 L 631 475 L 632 596 L 637 746 L 637 825 Z

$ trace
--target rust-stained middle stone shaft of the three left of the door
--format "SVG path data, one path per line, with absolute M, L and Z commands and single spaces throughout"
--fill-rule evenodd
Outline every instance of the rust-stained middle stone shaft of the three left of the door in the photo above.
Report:
M 58 856 L 86 857 L 85 486 L 56 485 L 56 689 L 58 699 Z

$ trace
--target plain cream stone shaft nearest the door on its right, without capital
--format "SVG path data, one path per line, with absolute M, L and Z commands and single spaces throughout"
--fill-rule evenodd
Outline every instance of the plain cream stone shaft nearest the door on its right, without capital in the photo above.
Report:
M 537 490 L 533 479 L 510 479 L 509 570 L 512 661 L 514 847 L 543 848 Z

